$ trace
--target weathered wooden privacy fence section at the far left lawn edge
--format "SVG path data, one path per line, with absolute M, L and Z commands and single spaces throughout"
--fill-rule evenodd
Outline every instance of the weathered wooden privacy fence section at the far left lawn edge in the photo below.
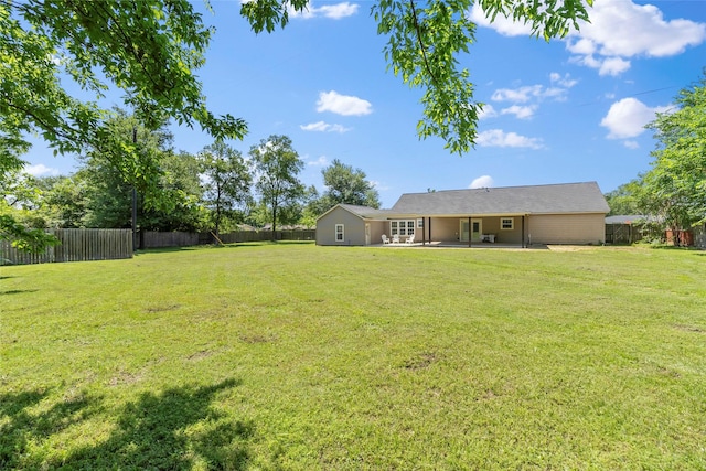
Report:
M 28 254 L 0 240 L 0 263 L 13 265 L 58 261 L 113 260 L 132 257 L 130 229 L 49 229 L 60 244 L 40 254 Z

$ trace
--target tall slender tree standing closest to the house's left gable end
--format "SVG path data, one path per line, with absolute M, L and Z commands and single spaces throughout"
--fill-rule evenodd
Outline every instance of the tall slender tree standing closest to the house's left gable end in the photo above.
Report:
M 285 212 L 304 194 L 304 185 L 297 179 L 304 163 L 291 146 L 287 136 L 270 136 L 249 152 L 256 172 L 255 186 L 271 216 L 272 239 L 279 211 Z

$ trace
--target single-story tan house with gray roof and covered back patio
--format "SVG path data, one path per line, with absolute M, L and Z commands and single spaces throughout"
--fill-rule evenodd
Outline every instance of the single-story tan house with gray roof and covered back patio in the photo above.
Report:
M 317 220 L 318 245 L 602 244 L 610 208 L 596 182 L 403 194 L 389 210 L 339 204 Z

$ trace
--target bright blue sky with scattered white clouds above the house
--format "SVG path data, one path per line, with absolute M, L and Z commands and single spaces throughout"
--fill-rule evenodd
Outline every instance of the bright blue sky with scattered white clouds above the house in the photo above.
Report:
M 306 162 L 303 183 L 322 192 L 321 170 L 339 159 L 366 173 L 383 207 L 428 189 L 597 181 L 612 191 L 649 170 L 655 141 L 644 125 L 706 67 L 702 0 L 596 0 L 590 24 L 549 43 L 473 9 L 477 41 L 461 65 L 485 109 L 475 149 L 459 157 L 417 138 L 421 92 L 386 69 L 371 2 L 314 1 L 285 30 L 259 35 L 237 1 L 212 1 L 213 14 L 194 4 L 216 28 L 197 71 L 208 106 L 248 122 L 248 136 L 229 143 L 247 154 L 286 135 Z M 179 150 L 212 143 L 173 131 Z M 38 175 L 76 168 L 41 143 L 24 159 Z

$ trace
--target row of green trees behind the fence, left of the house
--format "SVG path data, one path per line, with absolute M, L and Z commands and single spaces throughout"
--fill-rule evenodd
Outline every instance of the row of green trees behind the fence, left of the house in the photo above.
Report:
M 28 228 L 128 228 L 135 214 L 140 231 L 220 234 L 244 225 L 313 227 L 341 202 L 379 207 L 365 173 L 339 160 L 322 171 L 323 192 L 307 188 L 287 136 L 269 136 L 247 156 L 224 141 L 193 154 L 174 149 L 167 124 L 148 130 L 116 110 L 109 125 L 104 144 L 83 153 L 71 175 L 4 174 L 2 212 Z

